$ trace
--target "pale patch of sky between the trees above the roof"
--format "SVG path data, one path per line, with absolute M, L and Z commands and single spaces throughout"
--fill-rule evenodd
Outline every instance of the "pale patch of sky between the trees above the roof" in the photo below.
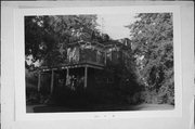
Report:
M 113 39 L 129 38 L 130 30 L 125 27 L 135 21 L 135 14 L 104 14 L 98 15 L 99 29 L 108 34 Z

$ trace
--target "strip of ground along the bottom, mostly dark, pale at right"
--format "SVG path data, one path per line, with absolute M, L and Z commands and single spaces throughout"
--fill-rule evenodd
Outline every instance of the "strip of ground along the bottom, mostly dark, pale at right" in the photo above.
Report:
M 55 106 L 27 105 L 27 113 L 61 113 L 61 112 L 117 112 L 117 111 L 164 111 L 173 109 L 168 104 L 139 104 L 139 105 L 98 105 L 98 106 Z

